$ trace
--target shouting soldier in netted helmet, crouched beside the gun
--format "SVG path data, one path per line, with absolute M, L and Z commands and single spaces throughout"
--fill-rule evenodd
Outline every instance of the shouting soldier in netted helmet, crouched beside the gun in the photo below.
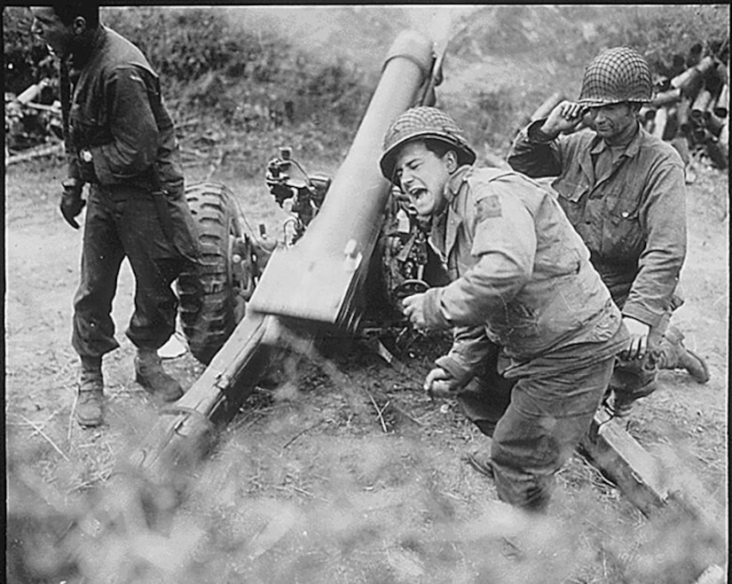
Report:
M 433 107 L 402 114 L 384 138 L 382 174 L 431 222 L 429 245 L 451 280 L 407 297 L 404 310 L 417 327 L 453 330 L 424 388 L 453 393 L 492 435 L 500 499 L 543 510 L 628 334 L 552 195 L 475 160 L 460 128 Z

